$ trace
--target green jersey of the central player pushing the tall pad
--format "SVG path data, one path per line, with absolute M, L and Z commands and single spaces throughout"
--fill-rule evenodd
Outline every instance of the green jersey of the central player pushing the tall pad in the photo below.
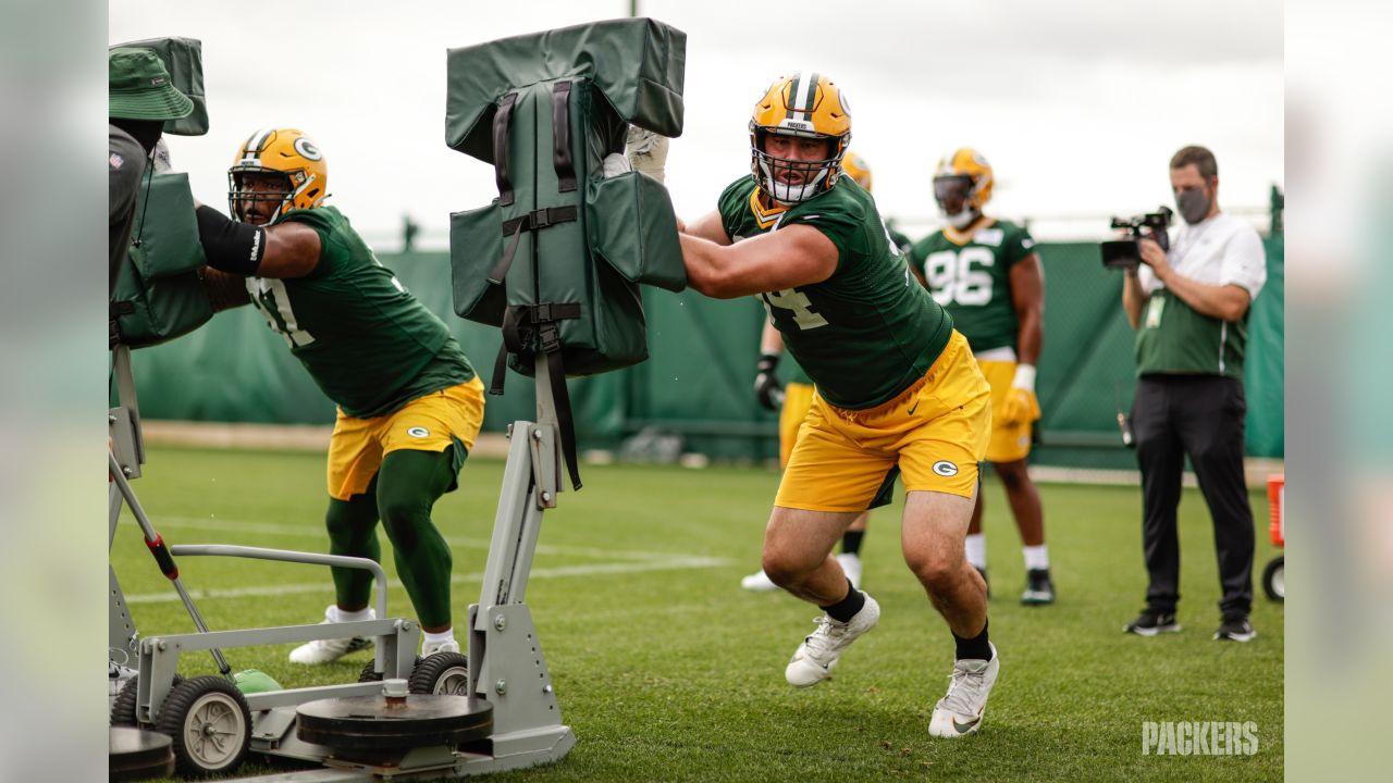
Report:
M 766 208 L 745 176 L 720 195 L 731 241 L 807 224 L 837 247 L 822 283 L 759 294 L 784 346 L 839 408 L 872 408 L 922 378 L 953 334 L 953 319 L 910 277 L 875 201 L 850 178 L 788 208 Z

